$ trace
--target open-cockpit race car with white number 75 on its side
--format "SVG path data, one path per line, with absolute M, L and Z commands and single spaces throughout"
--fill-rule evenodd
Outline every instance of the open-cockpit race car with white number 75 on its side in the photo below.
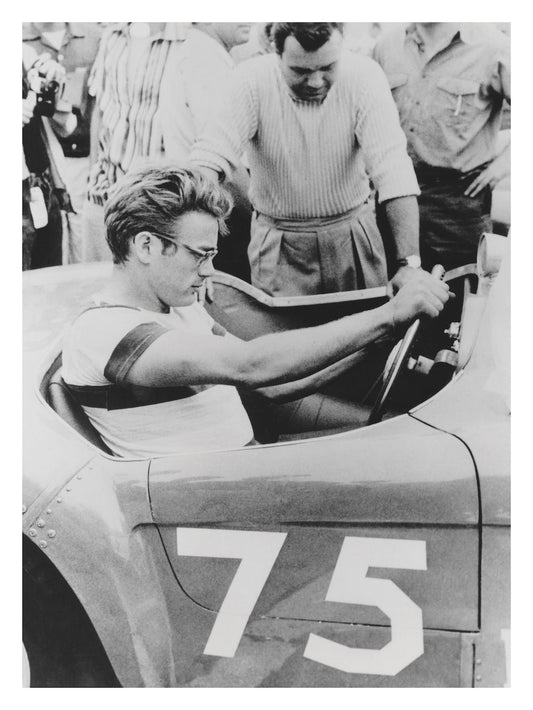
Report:
M 365 426 L 295 433 L 256 404 L 260 445 L 152 459 L 114 456 L 61 378 L 61 334 L 111 265 L 26 272 L 26 682 L 507 685 L 508 241 L 485 235 L 437 321 L 332 386 L 362 397 L 383 367 Z M 214 280 L 243 338 L 386 298 Z

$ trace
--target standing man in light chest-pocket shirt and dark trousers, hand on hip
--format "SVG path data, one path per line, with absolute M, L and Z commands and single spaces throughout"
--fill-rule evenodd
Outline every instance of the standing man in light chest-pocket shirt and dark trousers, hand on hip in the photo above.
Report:
M 492 231 L 492 190 L 510 169 L 510 145 L 498 141 L 511 101 L 509 39 L 491 23 L 414 22 L 383 35 L 374 57 L 420 185 L 423 267 L 473 263 Z

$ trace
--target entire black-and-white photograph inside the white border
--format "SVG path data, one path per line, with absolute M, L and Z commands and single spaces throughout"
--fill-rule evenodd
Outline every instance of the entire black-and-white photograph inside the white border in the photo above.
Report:
M 398 13 L 19 25 L 25 700 L 511 687 L 514 24 Z

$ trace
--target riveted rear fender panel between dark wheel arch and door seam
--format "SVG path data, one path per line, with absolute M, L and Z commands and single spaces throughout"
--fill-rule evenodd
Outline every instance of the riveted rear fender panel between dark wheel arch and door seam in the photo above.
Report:
M 24 530 L 82 602 L 120 682 L 166 687 L 175 684 L 159 577 L 168 563 L 149 525 L 147 471 L 146 461 L 93 457 L 45 508 L 25 513 Z

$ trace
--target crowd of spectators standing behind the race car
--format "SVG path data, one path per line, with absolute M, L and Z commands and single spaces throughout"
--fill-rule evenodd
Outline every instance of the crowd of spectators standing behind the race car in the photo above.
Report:
M 224 183 L 215 266 L 271 294 L 475 261 L 509 44 L 502 23 L 24 23 L 23 269 L 111 260 L 105 205 L 143 162 Z

